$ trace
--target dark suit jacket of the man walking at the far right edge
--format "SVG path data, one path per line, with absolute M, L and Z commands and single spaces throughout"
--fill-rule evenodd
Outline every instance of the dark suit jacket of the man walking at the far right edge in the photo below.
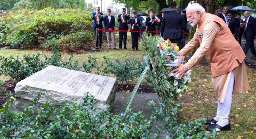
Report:
M 243 23 L 245 23 L 245 21 Z M 254 17 L 250 16 L 245 30 L 245 38 L 246 40 L 253 40 L 255 39 L 254 36 L 256 36 L 256 20 Z

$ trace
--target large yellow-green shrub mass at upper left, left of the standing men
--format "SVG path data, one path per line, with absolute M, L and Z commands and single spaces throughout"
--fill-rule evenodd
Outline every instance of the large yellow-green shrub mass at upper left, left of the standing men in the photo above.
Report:
M 92 31 L 91 13 L 79 9 L 19 9 L 1 16 L 0 22 L 0 33 L 5 34 L 6 43 L 10 45 L 39 45 L 61 35 Z

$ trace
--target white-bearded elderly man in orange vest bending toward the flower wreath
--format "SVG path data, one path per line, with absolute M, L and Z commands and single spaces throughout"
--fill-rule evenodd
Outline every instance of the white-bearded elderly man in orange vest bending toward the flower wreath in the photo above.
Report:
M 200 44 L 195 54 L 182 67 L 173 70 L 177 78 L 194 67 L 205 55 L 211 65 L 212 85 L 218 98 L 216 117 L 207 120 L 206 130 L 230 130 L 228 115 L 230 114 L 232 93 L 249 90 L 249 83 L 243 59 L 245 54 L 233 37 L 226 23 L 219 17 L 206 13 L 205 9 L 194 3 L 187 7 L 187 21 L 197 29 L 194 37 L 180 50 L 186 55 Z

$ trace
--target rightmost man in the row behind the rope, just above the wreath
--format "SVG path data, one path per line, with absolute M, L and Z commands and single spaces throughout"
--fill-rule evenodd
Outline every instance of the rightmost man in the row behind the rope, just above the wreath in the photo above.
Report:
M 145 25 L 148 27 L 148 31 L 156 31 L 156 26 L 157 26 L 157 23 L 155 21 L 155 17 L 154 17 L 154 12 L 155 11 L 150 11 L 150 17 L 147 17 L 146 18 L 146 22 L 145 22 Z M 148 36 L 151 35 L 156 35 L 156 33 L 148 33 Z

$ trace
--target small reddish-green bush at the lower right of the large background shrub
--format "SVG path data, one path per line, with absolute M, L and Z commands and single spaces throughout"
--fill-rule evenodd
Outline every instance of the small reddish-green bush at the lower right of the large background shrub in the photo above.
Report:
M 63 51 L 77 51 L 85 45 L 88 47 L 92 46 L 93 39 L 94 36 L 91 31 L 76 32 L 61 36 L 59 44 Z

